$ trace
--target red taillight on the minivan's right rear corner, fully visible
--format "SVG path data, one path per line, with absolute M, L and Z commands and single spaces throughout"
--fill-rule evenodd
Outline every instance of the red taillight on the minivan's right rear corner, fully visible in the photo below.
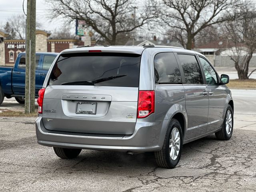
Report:
M 139 91 L 137 118 L 145 118 L 155 112 L 155 91 Z

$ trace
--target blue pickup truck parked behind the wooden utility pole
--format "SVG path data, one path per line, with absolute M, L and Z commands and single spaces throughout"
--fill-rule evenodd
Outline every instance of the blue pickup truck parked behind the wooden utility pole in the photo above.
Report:
M 58 53 L 36 53 L 36 96 L 42 88 L 46 74 Z M 25 96 L 26 54 L 20 53 L 14 67 L 0 66 L 0 105 L 4 97 L 15 97 L 23 104 Z M 36 97 L 35 96 L 35 97 Z

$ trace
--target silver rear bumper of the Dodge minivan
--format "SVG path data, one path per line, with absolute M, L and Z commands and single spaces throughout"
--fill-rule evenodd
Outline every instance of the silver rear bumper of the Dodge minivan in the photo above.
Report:
M 91 150 L 115 150 L 148 152 L 159 151 L 164 143 L 168 120 L 145 122 L 137 120 L 134 133 L 124 136 L 102 136 L 93 134 L 76 134 L 68 132 L 50 131 L 44 127 L 42 117 L 36 119 L 36 136 L 38 144 L 62 148 L 82 148 Z

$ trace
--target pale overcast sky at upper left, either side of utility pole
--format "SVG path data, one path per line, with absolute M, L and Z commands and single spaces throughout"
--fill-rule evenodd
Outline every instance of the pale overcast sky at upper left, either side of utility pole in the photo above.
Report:
M 24 1 L 24 10 L 26 12 L 27 0 Z M 0 26 L 6 23 L 8 18 L 13 14 L 24 14 L 22 10 L 23 0 L 0 0 Z M 46 16 L 48 15 L 49 7 L 46 6 L 44 0 L 36 0 L 36 21 L 42 25 L 42 30 L 53 32 L 55 28 L 61 27 L 60 20 L 50 20 Z M 74 30 L 75 32 L 75 26 Z

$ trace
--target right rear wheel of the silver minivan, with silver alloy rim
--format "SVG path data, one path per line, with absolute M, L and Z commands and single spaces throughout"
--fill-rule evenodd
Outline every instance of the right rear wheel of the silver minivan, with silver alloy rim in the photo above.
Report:
M 179 134 L 180 140 L 176 139 L 172 142 L 173 140 L 172 133 L 175 133 L 175 132 Z M 180 160 L 180 156 L 182 152 L 182 144 L 183 144 L 183 135 L 182 135 L 182 129 L 181 129 L 180 123 L 178 122 L 178 120 L 172 119 L 170 121 L 170 124 L 168 125 L 162 149 L 160 151 L 154 152 L 156 164 L 158 165 L 158 167 L 174 168 Z M 179 147 L 179 150 L 177 152 L 178 147 Z M 176 150 L 174 150 L 174 148 Z M 173 152 L 174 152 L 174 156 L 173 156 Z M 172 153 L 172 156 L 170 155 L 171 153 Z

